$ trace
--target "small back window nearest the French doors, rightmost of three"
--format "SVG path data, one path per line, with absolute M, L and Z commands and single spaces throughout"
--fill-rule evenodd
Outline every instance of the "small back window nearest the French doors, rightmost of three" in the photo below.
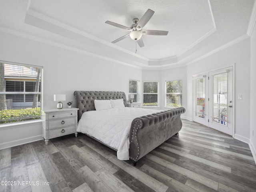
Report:
M 166 81 L 165 107 L 182 106 L 182 80 Z

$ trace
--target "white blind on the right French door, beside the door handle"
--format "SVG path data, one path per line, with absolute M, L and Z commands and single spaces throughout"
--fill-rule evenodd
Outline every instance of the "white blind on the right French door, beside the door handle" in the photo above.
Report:
M 212 76 L 212 120 L 226 125 L 228 120 L 228 72 Z

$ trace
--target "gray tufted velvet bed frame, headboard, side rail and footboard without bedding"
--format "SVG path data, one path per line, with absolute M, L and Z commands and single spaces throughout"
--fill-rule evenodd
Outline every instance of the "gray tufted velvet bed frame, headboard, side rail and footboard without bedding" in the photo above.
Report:
M 76 107 L 79 108 L 78 121 L 84 112 L 95 110 L 95 99 L 108 100 L 123 98 L 124 106 L 127 106 L 127 100 L 124 92 L 75 91 L 74 95 L 76 97 Z M 141 116 L 132 121 L 130 128 L 129 158 L 133 161 L 134 166 L 140 158 L 181 130 L 182 122 L 180 115 L 184 112 L 185 108 L 183 107 L 173 108 Z M 101 142 L 100 140 L 97 141 Z M 103 142 L 101 143 L 104 144 Z M 107 144 L 105 145 L 108 146 Z

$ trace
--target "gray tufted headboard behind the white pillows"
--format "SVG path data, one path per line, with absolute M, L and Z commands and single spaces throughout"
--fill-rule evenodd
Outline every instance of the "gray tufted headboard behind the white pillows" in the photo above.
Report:
M 113 91 L 75 91 L 76 107 L 78 110 L 78 121 L 86 111 L 95 110 L 94 100 L 124 99 L 124 106 L 127 107 L 127 100 L 124 92 Z

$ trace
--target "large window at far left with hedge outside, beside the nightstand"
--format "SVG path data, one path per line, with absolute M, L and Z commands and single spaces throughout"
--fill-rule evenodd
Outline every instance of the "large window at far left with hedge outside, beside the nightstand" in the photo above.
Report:
M 0 62 L 0 69 L 0 124 L 39 119 L 42 67 Z

